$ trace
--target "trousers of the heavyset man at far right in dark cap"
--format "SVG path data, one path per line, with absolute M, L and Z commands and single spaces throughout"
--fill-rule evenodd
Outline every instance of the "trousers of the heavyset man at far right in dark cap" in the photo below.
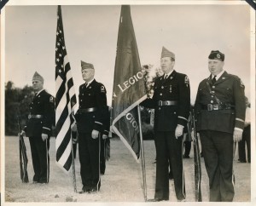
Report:
M 210 202 L 231 202 L 235 195 L 233 134 L 203 130 L 200 137 L 209 177 Z

